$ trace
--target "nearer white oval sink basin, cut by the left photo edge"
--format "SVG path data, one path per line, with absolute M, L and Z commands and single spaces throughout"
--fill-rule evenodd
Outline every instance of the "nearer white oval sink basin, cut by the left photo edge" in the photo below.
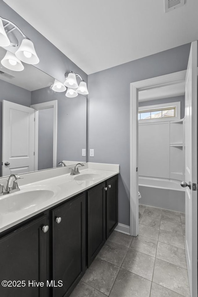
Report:
M 49 200 L 54 196 L 54 192 L 46 189 L 32 191 L 19 191 L 13 194 L 1 196 L 0 213 L 14 213 L 34 207 Z

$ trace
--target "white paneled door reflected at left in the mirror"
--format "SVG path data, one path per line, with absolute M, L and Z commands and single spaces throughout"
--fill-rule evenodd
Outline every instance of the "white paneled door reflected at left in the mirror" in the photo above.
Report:
M 3 100 L 2 176 L 34 171 L 34 114 L 33 108 Z

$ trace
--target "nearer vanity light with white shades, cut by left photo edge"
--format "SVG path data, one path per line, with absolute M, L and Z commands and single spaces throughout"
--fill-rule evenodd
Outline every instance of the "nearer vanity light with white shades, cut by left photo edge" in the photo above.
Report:
M 5 24 L 3 24 L 3 22 Z M 12 26 L 12 28 L 8 30 L 7 27 L 10 25 Z M 9 46 L 9 45 L 18 46 L 18 43 L 15 44 L 13 42 L 10 42 L 9 40 L 9 33 L 12 32 L 12 35 L 13 35 L 13 31 L 15 29 L 24 37 L 24 39 L 21 42 L 21 45 L 19 46 L 19 48 L 15 53 L 16 57 L 22 62 L 25 62 L 27 64 L 32 64 L 32 65 L 38 64 L 39 58 L 34 49 L 33 42 L 19 29 L 19 27 L 17 27 L 14 23 L 9 21 L 8 19 L 3 19 L 2 17 L 0 17 L 0 46 Z

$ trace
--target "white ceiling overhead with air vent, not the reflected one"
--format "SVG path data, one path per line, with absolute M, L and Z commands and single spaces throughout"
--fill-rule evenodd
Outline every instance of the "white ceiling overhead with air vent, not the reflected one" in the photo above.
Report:
M 87 74 L 198 39 L 197 0 L 4 1 Z

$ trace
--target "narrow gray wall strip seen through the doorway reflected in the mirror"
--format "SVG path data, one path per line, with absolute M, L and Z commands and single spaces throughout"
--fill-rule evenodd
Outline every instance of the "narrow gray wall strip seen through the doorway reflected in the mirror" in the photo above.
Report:
M 53 168 L 54 109 L 38 111 L 38 170 Z

